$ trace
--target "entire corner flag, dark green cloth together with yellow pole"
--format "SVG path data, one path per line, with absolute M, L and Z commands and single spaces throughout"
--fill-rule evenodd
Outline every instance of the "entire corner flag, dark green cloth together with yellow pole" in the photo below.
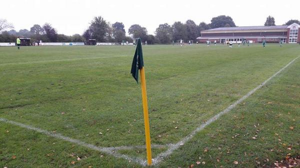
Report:
M 148 101 L 147 101 L 147 91 L 146 91 L 146 79 L 145 71 L 143 67 L 143 58 L 141 50 L 141 40 L 136 39 L 137 45 L 131 65 L 131 74 L 133 78 L 138 83 L 138 70 L 140 72 L 140 86 L 141 86 L 141 98 L 142 98 L 142 108 L 144 115 L 144 125 L 145 125 L 145 138 L 146 138 L 146 151 L 147 151 L 147 162 L 148 166 L 152 165 L 151 157 L 151 144 L 150 144 L 150 127 L 149 127 L 149 115 L 148 115 Z

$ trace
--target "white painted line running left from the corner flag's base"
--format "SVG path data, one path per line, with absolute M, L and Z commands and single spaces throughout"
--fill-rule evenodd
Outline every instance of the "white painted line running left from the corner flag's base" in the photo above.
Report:
M 48 132 L 46 130 L 31 127 L 31 126 L 21 124 L 21 123 L 17 123 L 17 122 L 14 122 L 14 121 L 10 121 L 10 120 L 7 120 L 7 119 L 0 118 L 0 121 L 4 122 L 4 123 L 9 123 L 9 124 L 12 124 L 12 125 L 15 125 L 15 126 L 19 126 L 19 127 L 22 127 L 22 128 L 28 129 L 28 130 L 33 130 L 33 131 L 36 131 L 38 133 L 42 133 L 42 134 L 45 134 L 45 135 L 50 136 L 50 137 L 54 137 L 54 138 L 58 138 L 58 139 L 70 142 L 70 143 L 74 143 L 74 144 L 77 144 L 79 146 L 86 147 L 86 148 L 89 148 L 89 149 L 92 149 L 92 150 L 95 150 L 95 151 L 103 152 L 103 153 L 109 154 L 111 156 L 114 156 L 116 158 L 123 158 L 125 160 L 134 161 L 134 162 L 136 162 L 136 163 L 138 163 L 142 166 L 147 165 L 147 161 L 142 160 L 140 158 L 132 158 L 132 157 L 129 157 L 127 155 L 122 155 L 122 154 L 116 153 L 115 150 L 118 150 L 118 149 L 114 148 L 114 147 L 111 147 L 111 148 L 96 147 L 94 145 L 87 144 L 87 143 L 84 143 L 84 142 L 76 140 L 76 139 L 71 139 L 69 137 L 64 137 L 64 136 L 62 136 L 58 133 L 51 133 L 51 132 Z M 126 149 L 126 148 L 122 147 L 121 149 Z

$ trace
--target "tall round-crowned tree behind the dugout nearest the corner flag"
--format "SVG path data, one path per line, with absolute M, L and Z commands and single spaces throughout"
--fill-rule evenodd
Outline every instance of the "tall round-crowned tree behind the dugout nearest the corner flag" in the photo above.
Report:
M 89 26 L 91 38 L 99 42 L 104 42 L 107 36 L 108 24 L 101 16 L 96 16 L 91 20 Z

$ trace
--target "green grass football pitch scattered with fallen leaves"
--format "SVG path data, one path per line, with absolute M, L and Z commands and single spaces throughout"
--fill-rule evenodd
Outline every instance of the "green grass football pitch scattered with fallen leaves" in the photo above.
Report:
M 134 50 L 0 47 L 0 118 L 97 147 L 144 145 L 140 87 L 130 75 Z M 143 55 L 151 143 L 162 145 L 154 158 L 300 56 L 300 47 L 153 45 Z M 299 155 L 299 69 L 300 58 L 155 167 L 255 168 Z M 146 157 L 139 148 L 117 153 Z M 0 168 L 89 166 L 142 167 L 0 122 Z

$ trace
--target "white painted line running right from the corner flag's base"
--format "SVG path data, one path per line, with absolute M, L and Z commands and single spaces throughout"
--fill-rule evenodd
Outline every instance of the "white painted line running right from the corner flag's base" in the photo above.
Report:
M 231 111 L 236 105 L 238 105 L 239 103 L 241 103 L 243 100 L 245 100 L 246 98 L 248 98 L 251 94 L 253 94 L 256 90 L 258 90 L 259 88 L 261 88 L 262 86 L 264 86 L 269 80 L 271 80 L 273 77 L 275 77 L 277 74 L 279 74 L 281 71 L 283 71 L 286 67 L 288 67 L 291 63 L 293 63 L 297 58 L 299 58 L 300 56 L 296 57 L 295 59 L 293 59 L 292 61 L 290 61 L 287 65 L 285 65 L 283 68 L 281 68 L 278 72 L 274 73 L 271 77 L 269 77 L 267 80 L 265 80 L 264 82 L 262 82 L 259 86 L 257 86 L 256 88 L 252 89 L 250 92 L 248 92 L 246 95 L 244 95 L 242 98 L 240 98 L 239 100 L 235 101 L 232 105 L 228 106 L 224 111 L 221 111 L 220 113 L 218 113 L 217 115 L 213 116 L 212 118 L 210 118 L 208 121 L 206 121 L 205 123 L 201 124 L 198 128 L 196 128 L 193 132 L 191 132 L 188 136 L 184 137 L 183 139 L 181 139 L 181 141 L 179 141 L 176 144 L 173 144 L 172 146 L 170 146 L 170 148 L 165 151 L 160 153 L 157 157 L 155 157 L 153 159 L 153 165 L 157 165 L 159 164 L 159 162 L 161 162 L 163 160 L 163 158 L 169 156 L 174 150 L 178 149 L 180 146 L 182 146 L 183 144 L 185 144 L 187 141 L 189 141 L 197 132 L 203 130 L 207 125 L 209 125 L 210 123 L 214 122 L 215 120 L 217 120 L 220 116 L 222 116 L 225 113 L 228 113 L 229 111 Z

